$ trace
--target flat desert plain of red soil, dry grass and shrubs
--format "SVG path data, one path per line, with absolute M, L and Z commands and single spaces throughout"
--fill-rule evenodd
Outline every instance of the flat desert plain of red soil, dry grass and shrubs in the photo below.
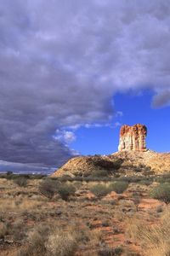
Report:
M 0 255 L 169 255 L 170 175 L 1 175 Z

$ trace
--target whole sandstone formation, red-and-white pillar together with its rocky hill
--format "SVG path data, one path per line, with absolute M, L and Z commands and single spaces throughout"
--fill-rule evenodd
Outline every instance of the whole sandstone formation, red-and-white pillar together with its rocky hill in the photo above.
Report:
M 145 125 L 123 125 L 119 152 L 110 155 L 78 156 L 68 160 L 52 177 L 131 177 L 160 175 L 169 172 L 170 153 L 156 153 L 146 149 Z

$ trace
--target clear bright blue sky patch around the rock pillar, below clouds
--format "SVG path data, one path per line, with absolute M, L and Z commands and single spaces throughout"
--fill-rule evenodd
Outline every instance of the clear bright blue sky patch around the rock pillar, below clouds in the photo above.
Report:
M 144 124 L 148 128 L 147 148 L 157 152 L 168 152 L 170 145 L 170 108 L 152 108 L 153 93 L 144 91 L 138 96 L 133 93 L 114 96 L 116 111 L 122 116 L 115 116 L 111 127 L 80 128 L 75 134 L 77 140 L 71 147 L 80 154 L 112 154 L 117 151 L 120 125 Z M 120 125 L 117 125 L 120 124 Z

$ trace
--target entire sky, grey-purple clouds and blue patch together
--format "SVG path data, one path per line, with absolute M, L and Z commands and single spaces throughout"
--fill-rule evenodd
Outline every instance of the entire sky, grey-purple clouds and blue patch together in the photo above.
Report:
M 111 154 L 123 124 L 170 151 L 170 0 L 49 2 L 0 2 L 0 171 Z

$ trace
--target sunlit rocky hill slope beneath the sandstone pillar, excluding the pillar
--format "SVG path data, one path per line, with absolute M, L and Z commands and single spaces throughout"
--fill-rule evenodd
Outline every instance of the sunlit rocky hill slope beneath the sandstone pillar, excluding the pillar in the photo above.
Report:
M 61 166 L 52 177 L 88 177 L 98 172 L 116 175 L 151 175 L 170 172 L 170 153 L 122 151 L 110 155 L 79 156 Z

